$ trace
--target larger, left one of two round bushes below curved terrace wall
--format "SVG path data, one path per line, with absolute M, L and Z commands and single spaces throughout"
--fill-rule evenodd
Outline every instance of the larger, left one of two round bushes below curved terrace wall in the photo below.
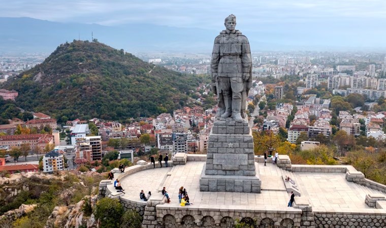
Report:
M 123 207 L 117 199 L 103 198 L 94 210 L 96 219 L 101 221 L 101 228 L 120 226 Z

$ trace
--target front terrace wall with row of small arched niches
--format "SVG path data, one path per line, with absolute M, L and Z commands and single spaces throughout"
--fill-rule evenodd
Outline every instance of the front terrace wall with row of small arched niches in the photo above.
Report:
M 296 208 L 267 208 L 258 206 L 157 205 L 158 225 L 164 228 L 221 227 L 231 228 L 236 219 L 259 227 L 301 227 L 302 210 Z

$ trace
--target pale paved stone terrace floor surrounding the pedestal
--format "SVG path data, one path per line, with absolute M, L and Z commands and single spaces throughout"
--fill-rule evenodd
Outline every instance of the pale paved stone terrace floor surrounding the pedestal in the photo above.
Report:
M 281 177 L 282 170 L 277 166 L 259 163 L 262 180 L 261 194 L 200 192 L 200 176 L 204 162 L 187 162 L 169 168 L 149 169 L 123 178 L 126 189 L 125 198 L 138 200 L 141 189 L 145 193 L 160 194 L 159 186 L 166 187 L 172 203 L 178 202 L 178 189 L 187 189 L 190 202 L 209 205 L 261 205 L 267 207 L 286 207 L 289 194 L 285 191 Z M 168 175 L 171 174 L 171 175 Z M 300 186 L 302 198 L 308 198 L 315 208 L 368 208 L 365 196 L 378 193 L 371 188 L 347 182 L 344 173 L 292 173 Z M 162 183 L 163 182 L 163 183 Z

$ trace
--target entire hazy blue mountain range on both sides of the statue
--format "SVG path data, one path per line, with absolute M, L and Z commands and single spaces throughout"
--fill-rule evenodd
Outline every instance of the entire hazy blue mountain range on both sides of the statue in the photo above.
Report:
M 351 24 L 360 26 L 361 33 L 352 35 L 347 22 L 319 23 L 307 27 L 302 23 L 282 21 L 264 23 L 256 27 L 237 26 L 251 44 L 252 52 L 259 51 L 385 51 L 383 33 L 370 33 L 380 22 L 363 25 L 360 20 Z M 127 52 L 188 52 L 211 53 L 216 35 L 223 29 L 180 28 L 154 24 L 125 24 L 102 26 L 99 24 L 59 23 L 33 18 L 0 17 L 2 35 L 0 52 L 52 52 L 59 44 L 73 40 L 97 39 L 116 49 Z M 243 27 L 245 26 L 245 27 Z M 306 29 L 305 29 L 306 27 Z M 335 32 L 326 32 L 335 31 Z

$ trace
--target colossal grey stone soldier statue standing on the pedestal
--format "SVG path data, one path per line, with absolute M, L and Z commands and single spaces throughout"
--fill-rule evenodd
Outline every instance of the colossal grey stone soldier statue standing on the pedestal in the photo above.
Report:
M 236 30 L 236 16 L 225 19 L 226 30 L 214 40 L 211 68 L 212 89 L 217 94 L 217 117 L 232 117 L 237 122 L 245 118 L 246 97 L 252 86 L 252 60 L 249 42 Z

